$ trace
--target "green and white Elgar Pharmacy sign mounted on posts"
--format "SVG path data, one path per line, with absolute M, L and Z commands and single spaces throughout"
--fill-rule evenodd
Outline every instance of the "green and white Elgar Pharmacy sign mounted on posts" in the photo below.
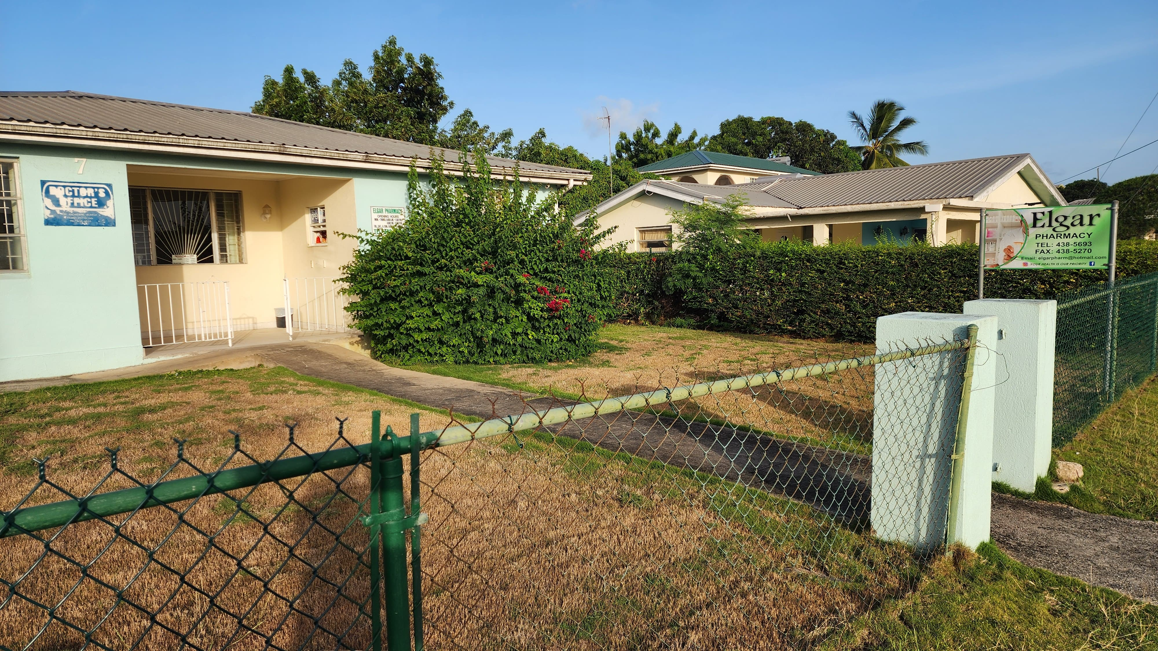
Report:
M 1109 266 L 1111 206 L 1053 206 L 985 210 L 984 267 L 1105 269 Z

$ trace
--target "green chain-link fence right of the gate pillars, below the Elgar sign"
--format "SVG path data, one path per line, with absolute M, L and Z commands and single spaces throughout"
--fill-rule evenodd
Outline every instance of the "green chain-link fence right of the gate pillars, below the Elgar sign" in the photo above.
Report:
M 1057 296 L 1054 447 L 1065 445 L 1158 363 L 1158 273 Z

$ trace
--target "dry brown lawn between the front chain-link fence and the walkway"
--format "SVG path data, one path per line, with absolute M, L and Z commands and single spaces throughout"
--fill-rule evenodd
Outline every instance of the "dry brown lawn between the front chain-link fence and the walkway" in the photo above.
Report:
M 2 398 L 5 509 L 36 483 L 20 461 L 29 456 L 52 453 L 49 479 L 79 491 L 108 472 L 104 446 L 120 446 L 120 467 L 152 480 L 173 461 L 174 437 L 188 439 L 192 463 L 215 467 L 233 450 L 227 429 L 240 430 L 243 450 L 264 460 L 283 453 L 285 421 L 300 423 L 295 442 L 313 452 L 334 443 L 335 415 L 351 419 L 347 437 L 358 444 L 368 439 L 372 409 L 400 431 L 416 410 L 283 369 Z M 420 413 L 424 430 L 447 423 Z M 904 592 L 914 576 L 903 550 L 800 504 L 569 438 L 535 435 L 522 443 L 475 442 L 424 457 L 432 649 L 808 646 Z M 175 471 L 189 474 L 184 466 Z M 365 648 L 368 624 L 358 605 L 368 593 L 367 535 L 351 519 L 367 475 L 365 467 L 345 468 L 177 505 L 183 513 L 153 508 L 118 516 L 119 535 L 89 521 L 66 527 L 47 546 L 29 537 L 0 540 L 5 582 L 52 550 L 21 582 L 23 597 L 0 609 L 0 644 L 21 648 L 45 624 L 35 599 L 63 602 L 58 617 L 95 628 L 93 639 L 111 649 L 134 642 L 173 649 L 181 636 L 205 649 L 261 649 L 266 639 L 286 649 L 335 648 L 339 637 L 342 648 Z M 115 476 L 102 491 L 127 484 Z M 349 498 L 336 498 L 337 487 Z M 58 498 L 42 488 L 32 502 Z M 214 543 L 207 547 L 208 535 Z M 0 587 L 0 599 L 8 597 Z M 154 611 L 151 620 L 146 613 Z M 82 641 L 53 622 L 32 648 L 72 649 Z

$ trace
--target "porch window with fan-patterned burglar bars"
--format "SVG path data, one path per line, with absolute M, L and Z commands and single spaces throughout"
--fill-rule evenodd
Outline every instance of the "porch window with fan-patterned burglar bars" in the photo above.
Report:
M 130 187 L 138 266 L 244 262 L 241 193 Z

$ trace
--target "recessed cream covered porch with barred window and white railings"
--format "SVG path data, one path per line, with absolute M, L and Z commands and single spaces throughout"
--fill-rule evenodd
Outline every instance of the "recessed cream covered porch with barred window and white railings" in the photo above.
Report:
M 127 165 L 127 180 L 146 360 L 353 332 L 338 279 L 356 241 L 335 236 L 358 230 L 353 179 Z

